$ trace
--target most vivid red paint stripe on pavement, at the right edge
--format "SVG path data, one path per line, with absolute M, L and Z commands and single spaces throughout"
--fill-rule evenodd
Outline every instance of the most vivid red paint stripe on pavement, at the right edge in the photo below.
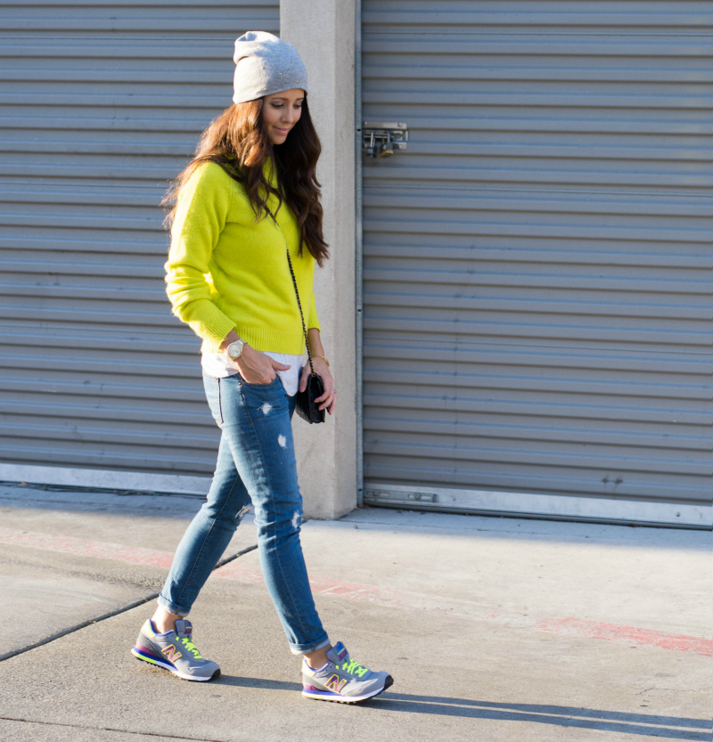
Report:
M 581 618 L 552 618 L 539 622 L 537 628 L 543 632 L 572 632 L 591 639 L 628 641 L 631 644 L 674 649 L 676 652 L 713 656 L 713 640 L 656 632 L 652 629 L 637 629 L 635 626 L 602 624 L 599 621 L 585 621 Z

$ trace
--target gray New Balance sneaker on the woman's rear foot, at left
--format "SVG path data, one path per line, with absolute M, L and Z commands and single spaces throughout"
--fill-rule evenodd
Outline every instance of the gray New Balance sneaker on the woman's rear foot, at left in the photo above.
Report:
M 220 674 L 220 668 L 215 662 L 203 659 L 191 640 L 192 630 L 190 621 L 178 619 L 176 631 L 160 634 L 154 631 L 151 619 L 146 619 L 131 654 L 163 667 L 184 681 L 212 681 Z

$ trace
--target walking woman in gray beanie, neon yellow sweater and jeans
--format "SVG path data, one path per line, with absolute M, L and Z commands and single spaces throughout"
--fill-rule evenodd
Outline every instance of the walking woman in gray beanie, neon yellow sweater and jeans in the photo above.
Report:
M 303 327 L 324 383 L 319 408 L 336 406 L 312 293 L 315 263 L 328 250 L 307 70 L 294 47 L 263 31 L 237 39 L 234 61 L 234 105 L 203 133 L 169 192 L 167 293 L 174 314 L 203 338 L 204 387 L 222 431 L 216 473 L 132 654 L 185 680 L 220 674 L 185 616 L 252 503 L 265 582 L 292 653 L 303 657 L 302 695 L 354 703 L 393 681 L 357 665 L 341 642 L 332 646 L 299 542 L 291 416 L 309 375 Z

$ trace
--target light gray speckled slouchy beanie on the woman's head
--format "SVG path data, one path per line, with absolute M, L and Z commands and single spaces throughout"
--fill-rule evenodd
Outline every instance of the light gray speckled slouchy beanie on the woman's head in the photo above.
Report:
M 307 69 L 297 49 L 266 31 L 248 31 L 235 40 L 233 102 L 301 87 L 307 93 Z

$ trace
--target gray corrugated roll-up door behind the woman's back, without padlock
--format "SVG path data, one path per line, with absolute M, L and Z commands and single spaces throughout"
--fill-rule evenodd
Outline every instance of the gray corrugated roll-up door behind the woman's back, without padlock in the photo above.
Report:
M 250 29 L 278 2 L 0 2 L 0 462 L 212 473 L 158 204 Z

